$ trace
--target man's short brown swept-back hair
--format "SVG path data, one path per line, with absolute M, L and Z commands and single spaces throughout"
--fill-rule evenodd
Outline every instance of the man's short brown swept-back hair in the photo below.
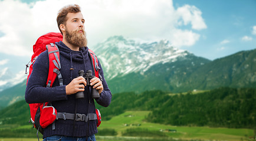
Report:
M 81 12 L 79 5 L 67 5 L 61 8 L 60 11 L 58 11 L 57 24 L 58 24 L 58 29 L 60 30 L 62 35 L 63 35 L 63 32 L 60 29 L 60 25 L 66 24 L 68 13 L 76 14 L 77 12 Z

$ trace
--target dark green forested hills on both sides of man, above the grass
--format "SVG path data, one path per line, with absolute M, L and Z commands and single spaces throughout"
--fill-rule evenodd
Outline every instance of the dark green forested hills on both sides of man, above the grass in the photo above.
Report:
M 109 120 L 127 110 L 152 111 L 148 122 L 176 126 L 256 127 L 256 89 L 219 88 L 202 93 L 170 94 L 160 90 L 116 93 L 109 107 L 96 105 Z M 0 110 L 1 125 L 28 125 L 29 106 L 24 100 Z

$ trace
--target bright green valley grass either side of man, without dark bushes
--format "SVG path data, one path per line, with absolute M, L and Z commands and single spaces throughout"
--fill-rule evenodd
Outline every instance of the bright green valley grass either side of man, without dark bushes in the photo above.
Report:
M 111 120 L 102 121 L 99 130 L 112 129 L 117 132 L 116 136 L 99 136 L 96 135 L 97 141 L 114 141 L 114 140 L 156 140 L 151 137 L 140 138 L 138 132 L 137 137 L 124 137 L 122 133 L 127 129 L 146 129 L 153 132 L 162 132 L 166 135 L 165 138 L 158 137 L 157 140 L 248 140 L 250 136 L 254 136 L 252 129 L 229 129 L 222 127 L 188 127 L 188 126 L 170 126 L 160 125 L 156 123 L 145 122 L 145 117 L 149 111 L 127 111 L 119 116 L 113 117 Z M 103 115 L 104 116 L 104 115 Z M 18 129 L 31 128 L 31 126 L 21 126 Z M 34 130 L 34 129 L 32 129 Z M 175 132 L 176 130 L 176 132 Z M 0 141 L 32 141 L 37 140 L 35 135 L 34 139 L 25 138 L 1 138 Z M 42 140 L 42 139 L 40 139 Z

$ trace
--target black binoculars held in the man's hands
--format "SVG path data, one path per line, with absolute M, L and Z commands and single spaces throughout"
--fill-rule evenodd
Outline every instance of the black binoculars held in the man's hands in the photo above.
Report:
M 91 87 L 91 98 L 94 98 L 94 99 L 100 98 L 100 94 L 98 90 L 94 89 L 93 86 L 90 85 L 90 80 L 95 78 L 95 76 L 93 76 L 93 72 L 91 70 L 87 70 L 86 73 L 84 73 L 84 70 L 79 70 L 78 75 L 83 76 L 83 78 L 86 79 L 87 86 Z M 77 92 L 76 98 L 77 99 L 84 98 L 84 92 Z

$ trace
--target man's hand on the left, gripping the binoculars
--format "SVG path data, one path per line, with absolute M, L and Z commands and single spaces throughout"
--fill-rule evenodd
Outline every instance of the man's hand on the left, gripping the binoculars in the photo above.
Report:
M 84 79 L 82 76 L 75 78 L 65 87 L 66 95 L 83 92 L 86 85 L 86 79 Z

